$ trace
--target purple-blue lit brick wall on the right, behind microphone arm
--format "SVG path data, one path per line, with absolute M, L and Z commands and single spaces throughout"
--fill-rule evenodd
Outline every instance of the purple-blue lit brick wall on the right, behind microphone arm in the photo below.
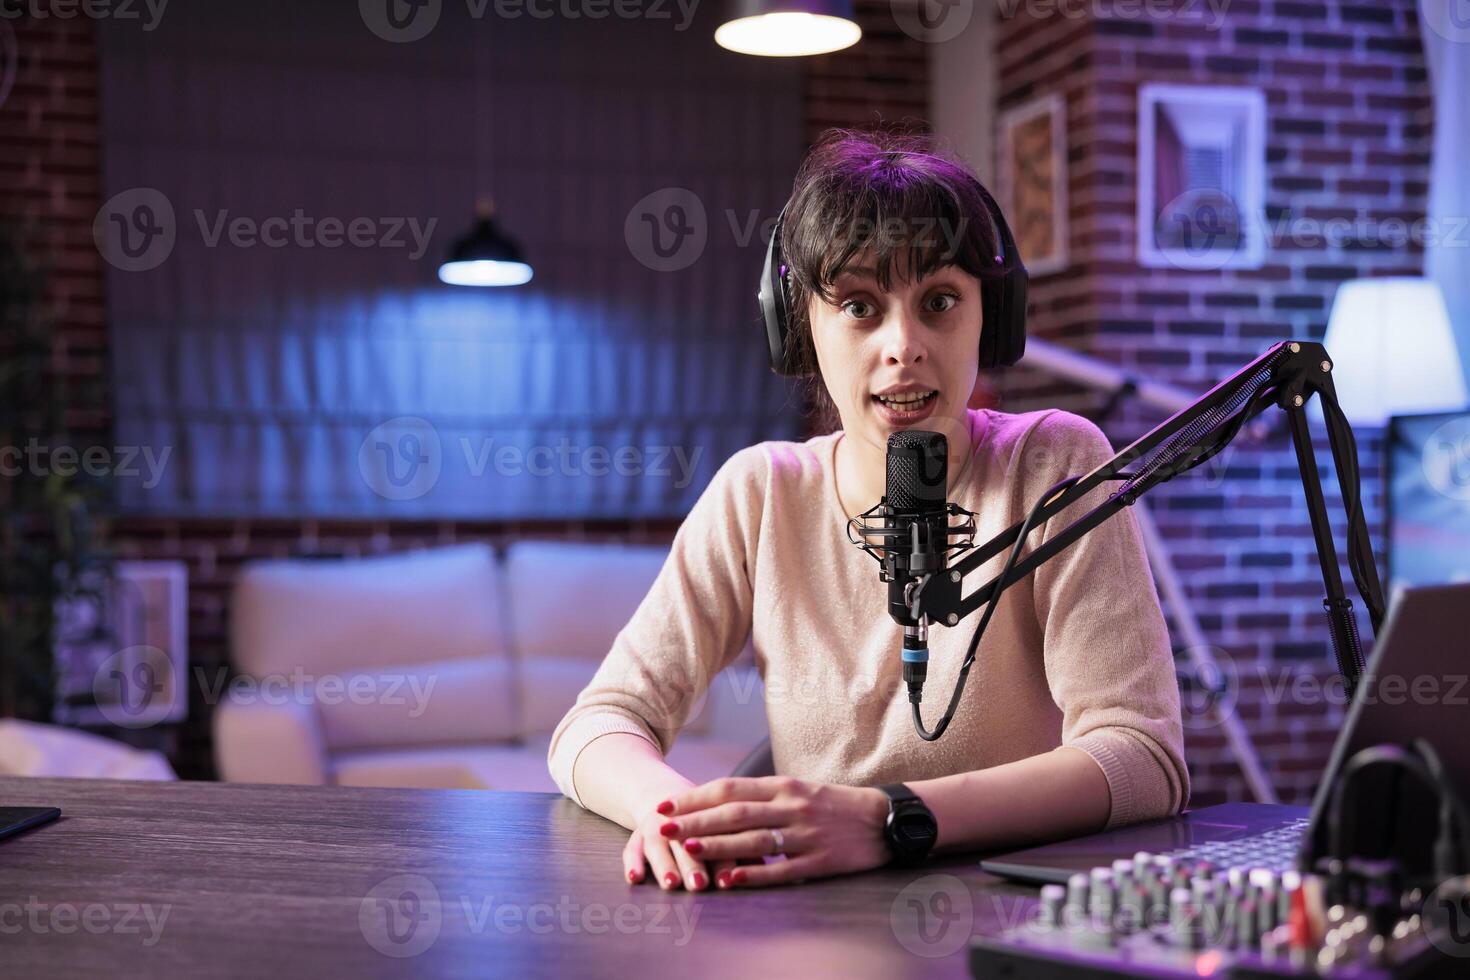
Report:
M 1214 28 L 1186 16 L 1119 16 L 1125 4 L 1111 15 L 1107 4 L 1086 9 L 1102 16 L 1020 13 L 1000 24 L 1001 109 L 1054 91 L 1067 101 L 1073 263 L 1033 284 L 1038 335 L 1202 392 L 1274 341 L 1322 339 L 1342 281 L 1423 273 L 1419 247 L 1394 244 L 1383 225 L 1413 222 L 1426 207 L 1430 104 L 1413 0 L 1233 0 Z M 1136 98 L 1139 84 L 1154 81 L 1260 87 L 1267 225 L 1347 217 L 1382 232 L 1386 244 L 1372 234 L 1345 241 L 1283 235 L 1269 242 L 1255 270 L 1139 266 Z M 1042 389 L 1026 373 L 1001 383 L 1000 394 L 1010 408 L 1072 403 L 1086 411 L 1098 403 L 1055 385 Z M 1236 442 L 1217 457 L 1223 467 L 1179 478 L 1150 504 L 1211 645 L 1239 671 L 1238 711 L 1277 789 L 1305 801 L 1341 711 L 1330 696 L 1326 705 L 1302 705 L 1279 693 L 1283 682 L 1310 689 L 1330 674 L 1332 660 L 1285 419 L 1276 410 L 1266 419 L 1274 429 L 1263 444 Z M 1105 428 L 1122 445 L 1160 420 L 1135 408 Z M 1319 461 L 1330 472 L 1320 426 L 1316 433 Z M 1382 433 L 1357 436 L 1382 554 Z M 1341 514 L 1330 486 L 1327 504 Z M 1335 523 L 1341 539 L 1342 522 Z M 1197 802 L 1248 796 L 1223 736 L 1202 716 L 1191 721 L 1188 749 Z

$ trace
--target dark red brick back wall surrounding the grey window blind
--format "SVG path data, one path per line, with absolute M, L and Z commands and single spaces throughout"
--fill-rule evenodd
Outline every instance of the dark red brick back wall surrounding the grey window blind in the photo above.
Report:
M 861 0 L 867 37 L 854 51 L 810 60 L 807 131 L 833 125 L 922 122 L 928 51 L 888 16 L 888 4 Z M 51 270 L 50 314 L 56 364 L 107 379 L 107 331 L 101 260 L 91 222 L 101 206 L 97 48 L 93 25 L 78 18 L 19 21 L 19 76 L 0 106 L 0 216 L 32 228 L 31 247 Z M 751 272 L 754 276 L 754 270 Z M 754 350 L 754 348 L 753 348 Z M 78 406 L 79 445 L 112 445 L 107 400 Z M 190 660 L 206 670 L 228 663 L 229 591 L 245 561 L 290 555 L 366 555 L 428 545 L 517 538 L 667 542 L 675 520 L 598 522 L 297 522 L 123 519 L 110 526 L 121 558 L 182 560 L 190 574 Z M 110 732 L 160 748 L 179 774 L 213 774 L 209 705 L 197 689 L 185 724 L 143 733 Z

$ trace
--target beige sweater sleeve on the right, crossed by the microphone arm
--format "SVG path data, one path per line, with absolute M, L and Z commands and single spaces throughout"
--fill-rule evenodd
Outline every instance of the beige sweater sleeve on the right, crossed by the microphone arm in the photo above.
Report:
M 1114 455 L 1080 416 L 1047 414 L 1019 460 L 1025 517 L 1051 485 Z M 1048 541 L 1116 491 L 1105 480 L 1058 511 L 1032 541 Z M 1125 507 L 1036 569 L 1036 620 L 1047 682 L 1063 713 L 1061 742 L 1091 755 L 1111 792 L 1108 827 L 1169 817 L 1189 799 L 1173 649 L 1142 533 Z

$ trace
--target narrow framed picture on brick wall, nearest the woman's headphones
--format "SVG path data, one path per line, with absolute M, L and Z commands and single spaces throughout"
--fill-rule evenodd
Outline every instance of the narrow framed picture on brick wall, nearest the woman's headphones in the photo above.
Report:
M 1067 266 L 1067 106 L 1044 96 L 1000 116 L 997 197 L 1033 276 Z

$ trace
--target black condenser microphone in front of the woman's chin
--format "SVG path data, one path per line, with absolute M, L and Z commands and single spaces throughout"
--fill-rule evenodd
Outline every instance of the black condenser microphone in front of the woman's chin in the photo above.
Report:
M 929 623 L 914 616 L 913 591 L 944 570 L 948 486 L 950 441 L 942 433 L 904 429 L 888 436 L 882 577 L 888 580 L 888 614 L 904 627 L 904 683 L 914 702 L 929 673 Z

